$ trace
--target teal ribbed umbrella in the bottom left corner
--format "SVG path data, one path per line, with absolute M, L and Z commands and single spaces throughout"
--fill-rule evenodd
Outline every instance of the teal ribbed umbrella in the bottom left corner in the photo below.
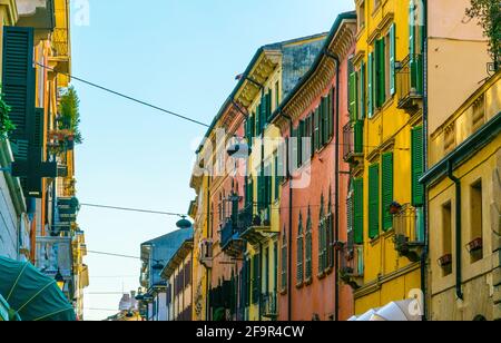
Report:
M 22 321 L 75 321 L 56 281 L 28 262 L 0 257 L 0 294 Z

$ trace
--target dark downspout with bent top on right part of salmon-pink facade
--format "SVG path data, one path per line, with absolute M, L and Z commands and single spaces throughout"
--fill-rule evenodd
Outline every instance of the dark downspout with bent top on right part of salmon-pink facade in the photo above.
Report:
M 333 59 L 336 63 L 336 112 L 334 116 L 334 133 L 335 133 L 335 147 L 334 147 L 334 187 L 335 187 L 335 209 L 334 214 L 336 217 L 336 228 L 334 232 L 334 242 L 340 242 L 340 69 L 341 63 L 337 56 L 332 55 L 328 50 L 324 51 L 325 56 Z M 331 247 L 334 248 L 334 247 Z M 340 321 L 340 254 L 337 251 L 334 251 L 334 321 Z

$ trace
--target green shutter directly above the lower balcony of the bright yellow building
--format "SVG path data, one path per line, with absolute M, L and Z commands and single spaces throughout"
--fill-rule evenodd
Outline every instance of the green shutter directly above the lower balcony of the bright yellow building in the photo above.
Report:
M 412 155 L 412 206 L 424 205 L 424 186 L 420 184 L 420 178 L 424 173 L 423 158 L 423 127 L 413 128 L 411 131 L 411 155 Z

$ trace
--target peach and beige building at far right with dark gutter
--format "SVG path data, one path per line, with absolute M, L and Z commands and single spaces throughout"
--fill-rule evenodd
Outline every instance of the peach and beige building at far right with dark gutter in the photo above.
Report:
M 470 1 L 428 7 L 428 315 L 500 320 L 501 72 Z

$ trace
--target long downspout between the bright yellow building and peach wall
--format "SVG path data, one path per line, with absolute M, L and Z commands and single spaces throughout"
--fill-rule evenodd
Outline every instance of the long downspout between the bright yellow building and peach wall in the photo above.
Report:
M 423 166 L 424 173 L 428 171 L 428 0 L 423 1 L 423 20 L 424 20 L 424 47 L 423 47 L 423 58 L 424 58 L 424 67 L 423 67 Z M 423 294 L 423 322 L 428 321 L 428 277 L 426 277 L 426 261 L 429 254 L 430 238 L 429 238 L 429 217 L 428 217 L 428 204 L 429 204 L 429 194 L 428 186 L 424 185 L 424 206 L 423 206 L 423 217 L 424 217 L 424 248 L 421 253 L 421 292 Z

